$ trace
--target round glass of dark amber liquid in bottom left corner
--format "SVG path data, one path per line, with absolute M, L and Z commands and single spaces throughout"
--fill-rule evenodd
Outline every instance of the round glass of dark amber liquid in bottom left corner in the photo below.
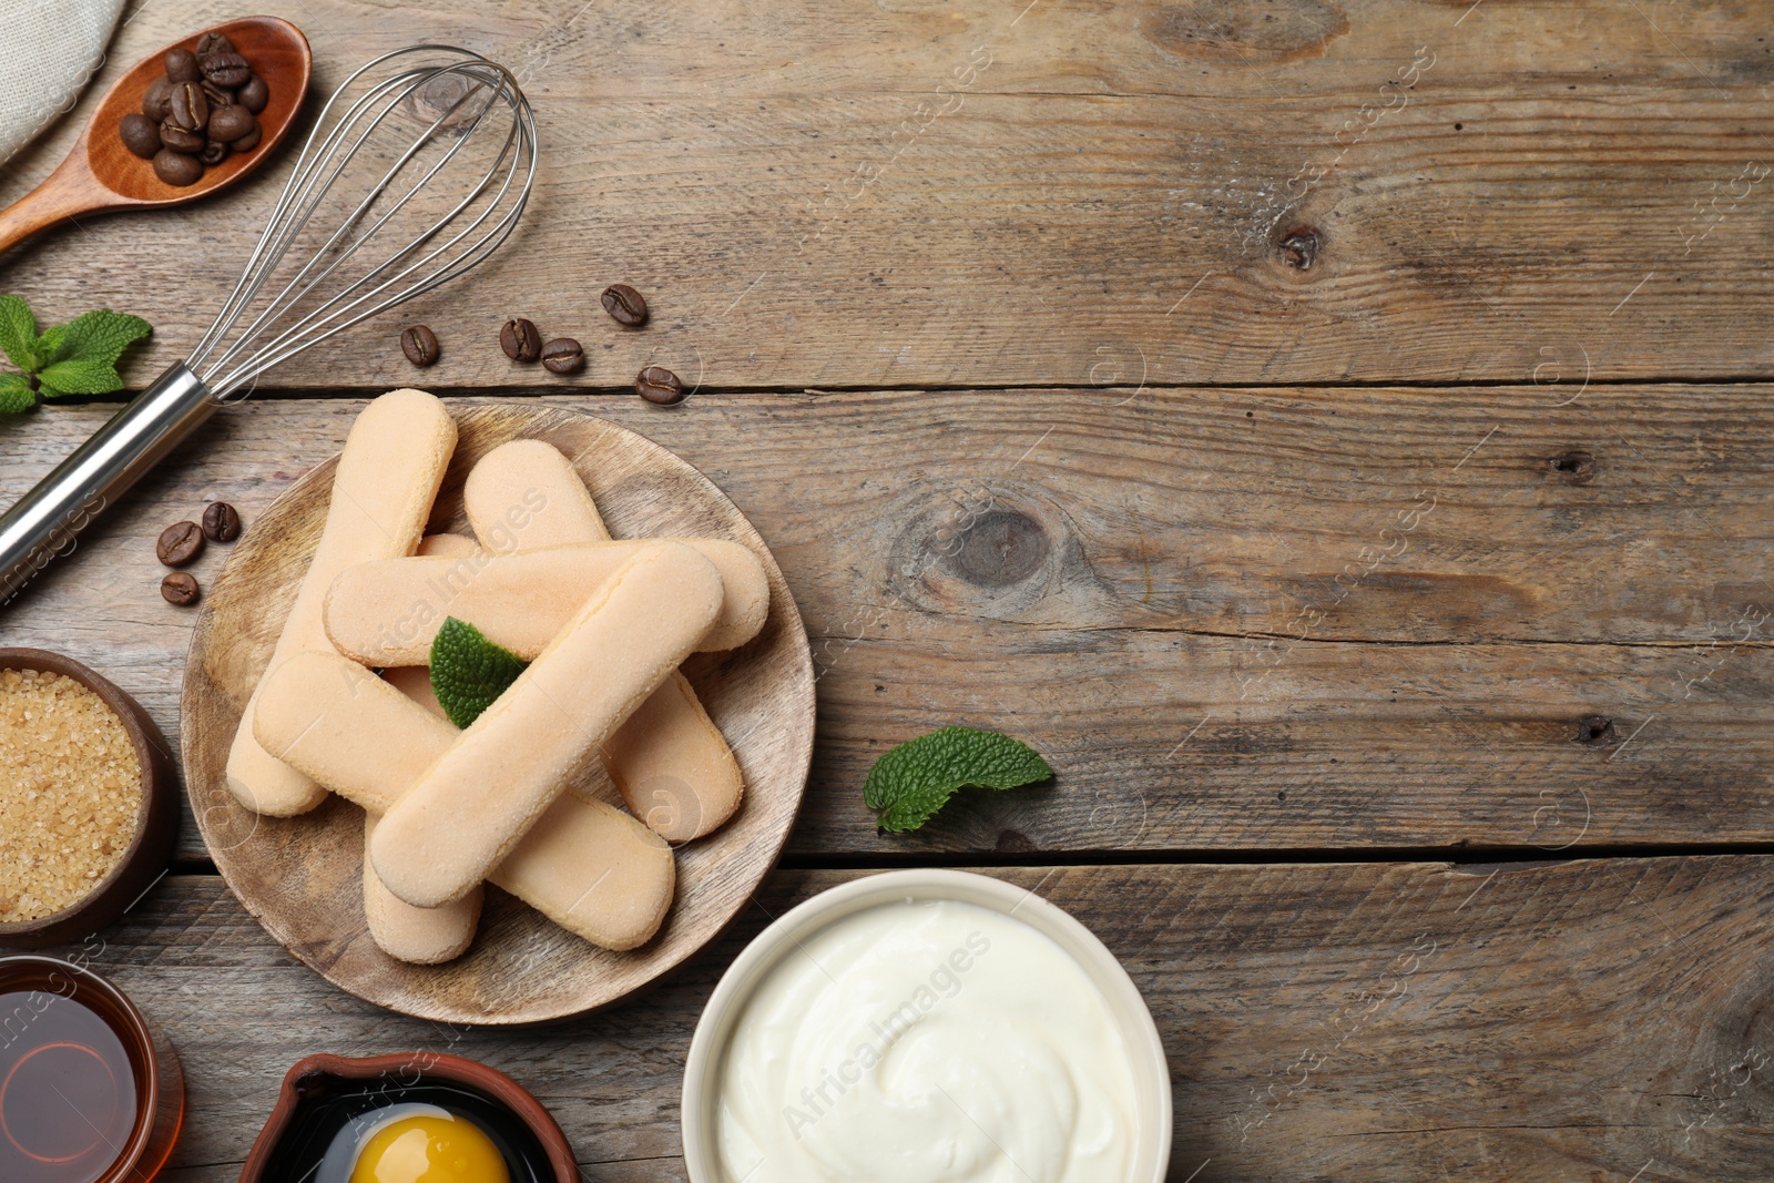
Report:
M 184 1075 L 130 999 L 73 961 L 0 958 L 0 1179 L 142 1183 L 184 1119 Z

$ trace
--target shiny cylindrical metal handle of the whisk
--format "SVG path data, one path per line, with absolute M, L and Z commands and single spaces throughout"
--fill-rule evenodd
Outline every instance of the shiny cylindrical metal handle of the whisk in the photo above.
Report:
M 220 408 L 209 387 L 179 362 L 112 415 L 0 516 L 0 603 L 69 553 L 99 513 Z

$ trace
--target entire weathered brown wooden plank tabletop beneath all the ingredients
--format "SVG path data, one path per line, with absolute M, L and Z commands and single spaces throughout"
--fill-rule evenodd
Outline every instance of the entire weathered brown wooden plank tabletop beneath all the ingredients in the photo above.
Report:
M 131 4 L 98 82 L 239 11 Z M 807 617 L 820 747 L 727 938 L 520 1034 L 332 990 L 186 819 L 174 874 L 90 951 L 184 1055 L 170 1178 L 232 1179 L 298 1055 L 428 1048 L 532 1087 L 587 1179 L 681 1179 L 720 970 L 795 899 L 926 864 L 1034 887 L 1121 956 L 1171 1054 L 1176 1183 L 1769 1178 L 1756 5 L 280 12 L 321 87 L 417 39 L 525 78 L 532 213 L 413 305 L 444 341 L 424 378 L 589 408 L 713 477 Z M 270 190 L 67 227 L 0 287 L 48 319 L 147 314 L 140 385 L 211 317 Z M 596 307 L 616 280 L 646 332 Z M 580 337 L 589 371 L 507 365 L 506 316 Z M 90 662 L 176 738 L 192 615 L 154 591 L 154 536 L 216 497 L 250 521 L 332 454 L 413 378 L 394 335 L 277 371 L 0 612 L 0 644 Z M 697 394 L 624 394 L 648 362 Z M 0 495 L 108 411 L 0 424 Z M 954 722 L 1029 738 L 1057 780 L 878 834 L 869 763 Z

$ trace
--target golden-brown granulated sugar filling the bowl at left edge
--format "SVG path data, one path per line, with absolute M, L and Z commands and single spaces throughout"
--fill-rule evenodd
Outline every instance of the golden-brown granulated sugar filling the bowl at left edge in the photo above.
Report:
M 53 915 L 110 874 L 142 814 L 142 764 L 105 701 L 0 670 L 0 922 Z

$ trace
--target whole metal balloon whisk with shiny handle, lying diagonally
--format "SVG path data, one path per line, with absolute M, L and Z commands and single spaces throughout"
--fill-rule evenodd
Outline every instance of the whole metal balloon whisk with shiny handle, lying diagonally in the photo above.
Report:
M 266 369 L 493 254 L 534 179 L 536 119 L 504 66 L 424 44 L 346 78 L 190 358 L 0 516 L 0 603 Z

